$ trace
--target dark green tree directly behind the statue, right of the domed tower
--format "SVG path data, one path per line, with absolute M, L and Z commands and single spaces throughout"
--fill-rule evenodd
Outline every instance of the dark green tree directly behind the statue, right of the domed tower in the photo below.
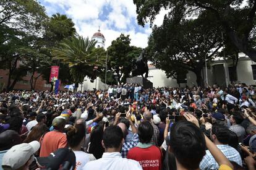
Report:
M 126 82 L 132 71 L 132 61 L 140 55 L 141 48 L 130 46 L 130 36 L 121 34 L 108 47 L 109 67 L 117 74 L 117 81 Z

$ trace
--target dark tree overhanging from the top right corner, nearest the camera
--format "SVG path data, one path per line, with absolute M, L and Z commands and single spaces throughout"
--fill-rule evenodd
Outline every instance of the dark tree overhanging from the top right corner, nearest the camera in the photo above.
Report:
M 168 9 L 168 17 L 182 16 L 183 20 L 197 20 L 200 15 L 211 15 L 211 22 L 221 26 L 224 35 L 239 51 L 256 61 L 255 12 L 256 0 L 134 0 L 137 6 L 137 20 L 145 25 L 148 19 L 153 23 L 161 9 Z

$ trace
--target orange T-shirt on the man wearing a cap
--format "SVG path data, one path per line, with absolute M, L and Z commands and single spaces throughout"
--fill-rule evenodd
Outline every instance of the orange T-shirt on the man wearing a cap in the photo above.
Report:
M 59 148 L 66 148 L 67 137 L 61 132 L 51 131 L 41 137 L 40 144 L 40 157 L 46 157 L 49 156 L 50 153 L 58 150 Z

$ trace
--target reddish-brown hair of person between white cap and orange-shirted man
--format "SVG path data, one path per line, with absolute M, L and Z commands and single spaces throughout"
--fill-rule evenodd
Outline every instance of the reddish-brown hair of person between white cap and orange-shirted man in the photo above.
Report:
M 33 129 L 30 131 L 30 133 L 27 135 L 27 138 L 25 138 L 24 143 L 30 143 L 34 140 L 37 140 L 39 142 L 41 136 L 48 132 L 48 128 L 45 124 L 39 123 L 36 124 Z

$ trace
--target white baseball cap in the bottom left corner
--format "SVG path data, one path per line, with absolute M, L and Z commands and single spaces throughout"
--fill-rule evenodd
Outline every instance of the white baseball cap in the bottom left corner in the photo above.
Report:
M 40 148 L 40 143 L 32 141 L 21 143 L 9 149 L 2 157 L 2 166 L 9 166 L 11 169 L 18 169 L 25 165 L 27 161 Z

